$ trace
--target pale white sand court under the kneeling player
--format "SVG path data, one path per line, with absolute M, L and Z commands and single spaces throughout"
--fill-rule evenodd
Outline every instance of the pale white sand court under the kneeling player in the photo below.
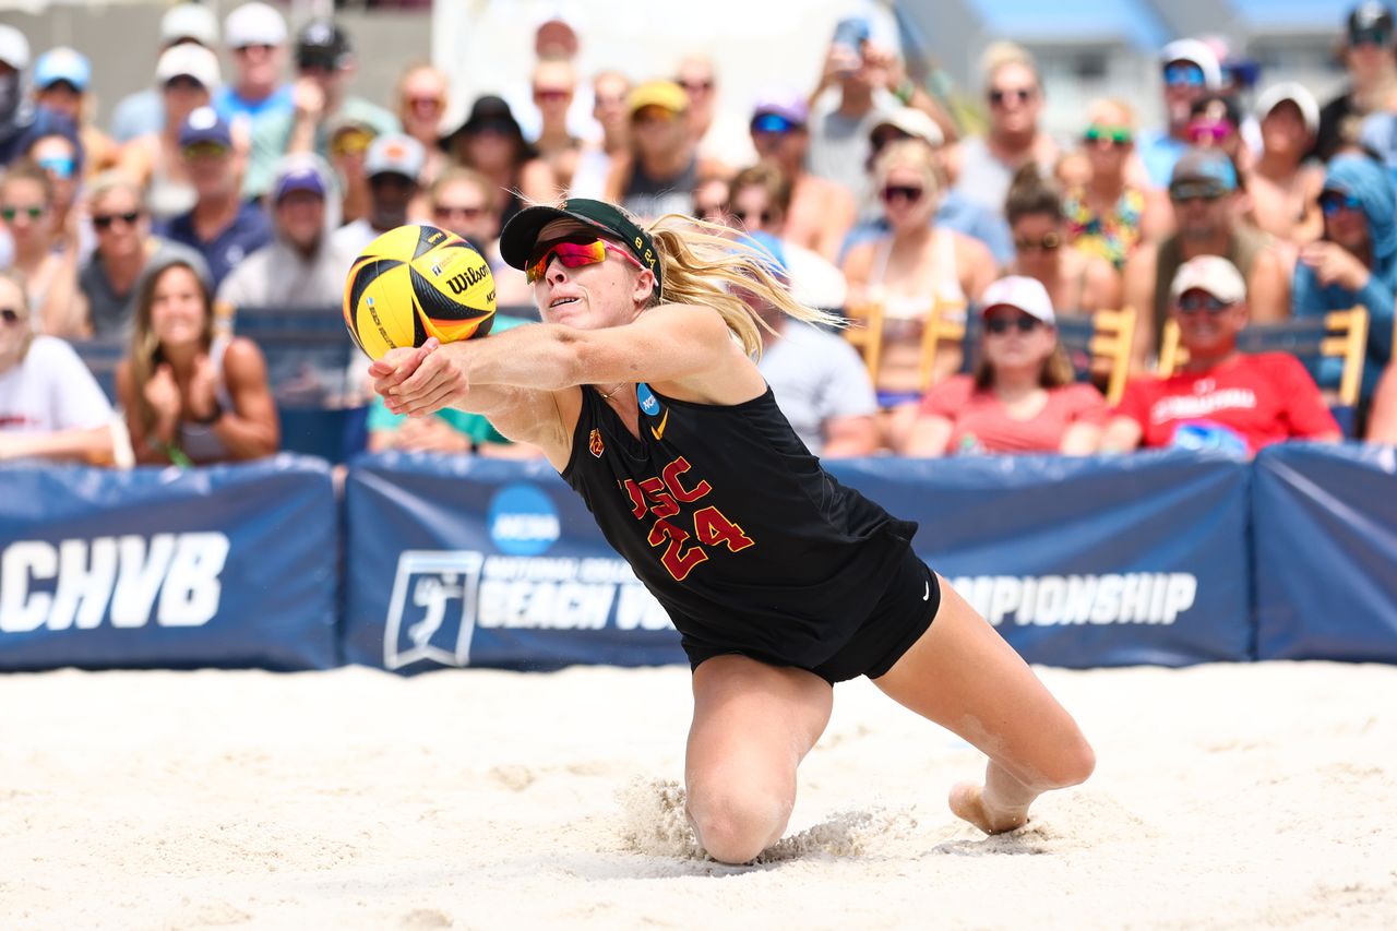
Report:
M 859 681 L 753 867 L 683 823 L 683 668 L 0 677 L 0 927 L 1397 925 L 1397 668 L 1041 675 L 1099 765 L 1025 828 Z

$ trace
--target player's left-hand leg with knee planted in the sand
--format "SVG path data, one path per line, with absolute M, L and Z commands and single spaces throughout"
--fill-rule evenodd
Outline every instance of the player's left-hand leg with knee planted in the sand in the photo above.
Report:
M 824 732 L 834 689 L 803 670 L 717 656 L 694 670 L 687 815 L 714 860 L 747 863 L 781 839 L 795 770 Z

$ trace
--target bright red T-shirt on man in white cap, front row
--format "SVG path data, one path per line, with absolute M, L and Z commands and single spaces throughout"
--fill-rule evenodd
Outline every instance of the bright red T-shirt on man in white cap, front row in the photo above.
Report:
M 1182 424 L 1225 426 L 1255 456 L 1287 439 L 1334 439 L 1340 429 L 1299 359 L 1285 352 L 1236 355 L 1207 372 L 1136 379 L 1116 414 L 1140 425 L 1141 446 L 1169 446 Z

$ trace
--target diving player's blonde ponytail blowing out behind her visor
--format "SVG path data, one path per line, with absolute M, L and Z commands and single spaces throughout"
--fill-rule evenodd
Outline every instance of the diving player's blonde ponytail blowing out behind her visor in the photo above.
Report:
M 657 303 L 696 303 L 712 308 L 728 330 L 742 341 L 747 355 L 761 355 L 761 331 L 767 326 L 735 291 L 805 323 L 842 326 L 844 319 L 807 308 L 791 296 L 791 289 L 771 274 L 771 257 L 757 246 L 728 236 L 731 229 L 683 214 L 666 214 L 647 228 L 659 253 L 661 294 Z

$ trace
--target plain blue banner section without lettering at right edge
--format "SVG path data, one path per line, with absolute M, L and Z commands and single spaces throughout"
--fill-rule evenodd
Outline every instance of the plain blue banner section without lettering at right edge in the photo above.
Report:
M 1253 513 L 1260 657 L 1397 663 L 1397 449 L 1263 450 Z

